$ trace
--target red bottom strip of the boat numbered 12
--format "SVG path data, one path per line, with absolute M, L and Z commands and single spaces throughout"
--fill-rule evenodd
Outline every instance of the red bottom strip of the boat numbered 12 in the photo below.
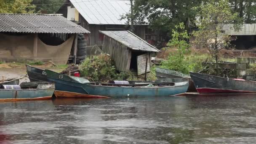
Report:
M 214 93 L 256 93 L 255 91 L 237 91 L 237 90 L 224 90 L 218 88 L 196 88 L 200 94 L 214 94 Z

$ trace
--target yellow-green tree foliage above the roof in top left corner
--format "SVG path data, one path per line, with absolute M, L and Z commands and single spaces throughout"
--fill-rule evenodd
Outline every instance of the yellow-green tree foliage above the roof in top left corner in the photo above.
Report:
M 0 13 L 33 13 L 32 0 L 0 0 Z

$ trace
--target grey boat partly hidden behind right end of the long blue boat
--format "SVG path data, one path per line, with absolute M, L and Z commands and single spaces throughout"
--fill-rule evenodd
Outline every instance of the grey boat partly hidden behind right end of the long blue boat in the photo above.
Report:
M 193 81 L 191 80 L 191 77 L 189 75 L 185 75 L 181 72 L 176 72 L 175 70 L 170 69 L 163 69 L 160 67 L 156 68 L 156 75 L 157 79 L 163 79 L 163 78 L 184 78 L 189 80 L 189 88 L 187 89 L 188 92 L 195 92 L 195 85 Z

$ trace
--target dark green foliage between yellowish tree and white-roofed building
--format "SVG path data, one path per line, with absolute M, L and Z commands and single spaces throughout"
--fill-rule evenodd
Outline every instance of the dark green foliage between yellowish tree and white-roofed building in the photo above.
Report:
M 45 10 L 47 13 L 56 13 L 65 2 L 66 0 L 33 0 L 32 4 L 36 6 L 38 12 Z

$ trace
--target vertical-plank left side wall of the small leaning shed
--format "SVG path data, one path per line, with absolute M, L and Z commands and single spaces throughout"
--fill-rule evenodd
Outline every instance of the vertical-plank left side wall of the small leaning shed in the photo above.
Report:
M 131 64 L 131 50 L 118 41 L 104 35 L 102 50 L 115 61 L 116 69 L 128 72 Z

